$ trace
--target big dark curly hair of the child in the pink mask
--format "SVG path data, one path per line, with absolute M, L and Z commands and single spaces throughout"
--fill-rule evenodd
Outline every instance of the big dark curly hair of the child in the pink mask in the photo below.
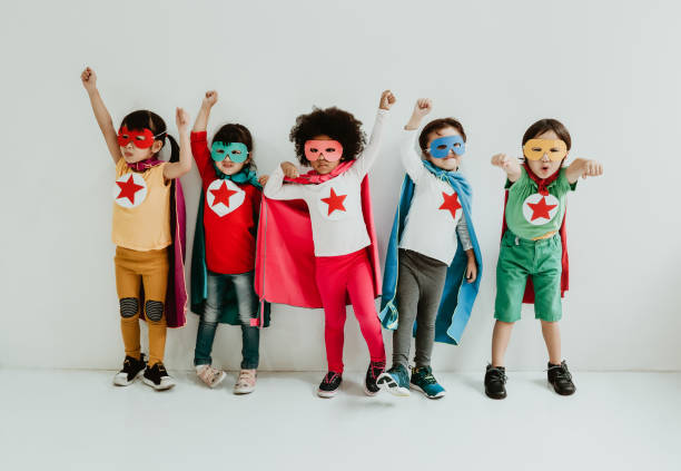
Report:
M 296 146 L 298 161 L 309 166 L 305 157 L 305 143 L 315 136 L 326 135 L 343 146 L 340 161 L 354 160 L 364 150 L 366 136 L 362 130 L 362 121 L 352 114 L 339 108 L 313 108 L 307 115 L 296 118 L 296 125 L 290 129 L 288 138 Z

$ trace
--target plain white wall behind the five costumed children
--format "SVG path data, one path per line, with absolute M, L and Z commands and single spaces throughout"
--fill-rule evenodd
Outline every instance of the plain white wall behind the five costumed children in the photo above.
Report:
M 391 88 L 398 102 L 372 170 L 382 254 L 403 175 L 396 140 L 413 101 L 432 97 L 433 117 L 460 118 L 485 273 L 463 344 L 436 346 L 438 370 L 482 371 L 490 357 L 504 181 L 490 156 L 519 154 L 530 124 L 559 118 L 573 136 L 571 156 L 605 165 L 570 197 L 564 356 L 578 369 L 681 369 L 679 3 L 3 3 L 0 365 L 114 369 L 122 360 L 114 166 L 79 80 L 91 66 L 116 122 L 145 107 L 175 129 L 175 107 L 194 118 L 204 91 L 216 88 L 209 133 L 246 125 L 265 171 L 293 158 L 297 115 L 337 105 L 369 133 L 378 95 Z M 190 243 L 195 169 L 182 184 Z M 191 364 L 197 318 L 188 317 L 168 335 L 171 369 Z M 261 367 L 325 369 L 322 332 L 320 311 L 276 306 Z M 219 364 L 238 366 L 239 338 L 237 328 L 220 330 Z M 366 367 L 352 316 L 345 356 L 348 369 Z M 544 362 L 529 312 L 507 364 Z

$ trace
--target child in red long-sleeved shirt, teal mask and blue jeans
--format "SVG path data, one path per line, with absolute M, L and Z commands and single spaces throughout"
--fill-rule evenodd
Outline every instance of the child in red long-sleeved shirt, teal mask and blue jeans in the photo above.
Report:
M 254 292 L 256 222 L 267 177 L 258 181 L 245 126 L 220 127 L 208 148 L 206 126 L 217 97 L 206 92 L 190 136 L 203 180 L 191 256 L 191 311 L 200 315 L 194 364 L 208 386 L 217 386 L 225 379 L 210 359 L 217 324 L 240 325 L 243 361 L 234 392 L 246 394 L 255 390 L 259 327 L 268 321 L 258 315 Z

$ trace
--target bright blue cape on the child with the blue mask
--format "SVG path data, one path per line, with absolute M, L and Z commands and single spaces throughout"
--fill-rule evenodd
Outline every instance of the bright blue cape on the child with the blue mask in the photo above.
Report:
M 473 227 L 473 219 L 471 218 L 472 192 L 468 181 L 460 173 L 438 171 L 434 166 L 425 161 L 424 166 L 438 178 L 450 184 L 458 195 L 458 202 L 464 212 L 463 217 L 466 218 L 468 225 L 471 244 L 473 245 L 473 252 L 477 262 L 477 278 L 473 283 L 465 282 L 464 277 L 468 258 L 461 246 L 461 241 L 458 241 L 456 254 L 447 268 L 447 276 L 440 301 L 440 307 L 437 308 L 437 316 L 435 318 L 435 342 L 458 345 L 463 331 L 471 317 L 471 311 L 477 297 L 483 273 L 482 253 L 477 243 L 477 236 L 475 235 L 475 228 Z M 405 175 L 385 259 L 385 276 L 383 278 L 383 298 L 381 302 L 379 317 L 383 326 L 389 330 L 396 330 L 398 325 L 399 306 L 396 300 L 398 276 L 397 251 L 405 220 L 412 206 L 414 188 L 414 181 L 408 175 Z M 458 238 L 458 235 L 456 235 L 456 237 Z M 416 330 L 417 323 L 414 322 L 414 335 L 416 335 Z

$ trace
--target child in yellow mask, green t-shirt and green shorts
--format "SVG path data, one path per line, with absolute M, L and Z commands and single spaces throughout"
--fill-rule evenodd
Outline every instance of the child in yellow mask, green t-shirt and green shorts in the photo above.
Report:
M 521 317 L 527 276 L 534 287 L 534 314 L 542 322 L 549 351 L 549 382 L 561 395 L 576 389 L 565 361 L 561 361 L 561 296 L 566 290 L 566 253 L 561 238 L 565 197 L 580 176 L 603 174 L 595 160 L 574 159 L 563 167 L 571 147 L 570 133 L 555 119 L 536 121 L 523 136 L 524 163 L 497 154 L 492 165 L 507 176 L 509 188 L 499 263 L 496 266 L 496 323 L 492 335 L 492 363 L 485 373 L 485 393 L 506 396 L 504 354 L 513 323 Z

